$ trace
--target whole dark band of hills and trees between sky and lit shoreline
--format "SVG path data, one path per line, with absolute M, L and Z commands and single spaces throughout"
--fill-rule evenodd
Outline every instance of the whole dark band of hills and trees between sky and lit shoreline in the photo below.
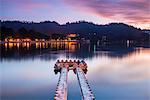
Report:
M 91 41 L 106 40 L 114 41 L 138 41 L 149 42 L 150 34 L 143 30 L 124 23 L 110 23 L 97 25 L 91 22 L 79 21 L 60 25 L 55 21 L 40 23 L 1 21 L 1 39 L 12 38 L 54 38 L 64 39 L 66 34 L 78 34 L 78 39 L 89 39 Z M 105 39 L 104 39 L 105 38 Z

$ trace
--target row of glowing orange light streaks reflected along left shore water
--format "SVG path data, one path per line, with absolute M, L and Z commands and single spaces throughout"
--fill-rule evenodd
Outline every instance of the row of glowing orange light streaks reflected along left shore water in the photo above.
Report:
M 16 39 L 16 41 L 19 41 Z M 69 41 L 53 41 L 53 42 L 7 42 L 4 43 L 5 50 L 8 51 L 11 48 L 16 50 L 30 50 L 50 48 L 53 50 L 65 50 L 66 52 L 75 52 L 80 45 L 77 42 Z

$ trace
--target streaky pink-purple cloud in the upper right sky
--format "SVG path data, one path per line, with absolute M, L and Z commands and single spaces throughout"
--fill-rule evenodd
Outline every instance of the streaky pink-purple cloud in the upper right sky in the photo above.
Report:
M 65 4 L 98 16 L 131 24 L 150 23 L 149 0 L 64 0 Z

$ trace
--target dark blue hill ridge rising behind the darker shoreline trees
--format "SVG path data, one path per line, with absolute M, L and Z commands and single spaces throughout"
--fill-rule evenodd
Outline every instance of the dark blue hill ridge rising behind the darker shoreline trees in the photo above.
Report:
M 80 37 L 92 39 L 101 38 L 101 36 L 107 36 L 111 40 L 133 39 L 133 40 L 149 40 L 149 34 L 144 33 L 141 29 L 137 29 L 133 26 L 129 26 L 123 23 L 110 23 L 107 25 L 97 25 L 85 21 L 79 21 L 74 23 L 66 23 L 60 25 L 55 21 L 45 22 L 20 22 L 20 21 L 1 21 L 1 33 L 5 33 L 4 29 L 11 30 L 14 34 L 18 33 L 18 30 L 24 29 L 27 32 L 34 31 L 44 36 L 51 36 L 52 34 L 67 34 L 77 33 Z M 34 34 L 32 34 L 34 37 Z

